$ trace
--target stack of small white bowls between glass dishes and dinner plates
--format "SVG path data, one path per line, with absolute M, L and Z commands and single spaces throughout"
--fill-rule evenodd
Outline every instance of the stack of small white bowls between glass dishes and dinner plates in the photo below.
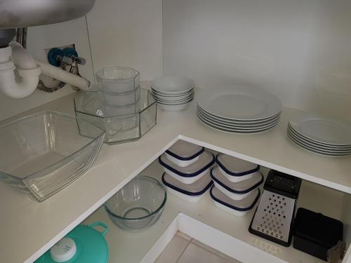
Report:
M 151 92 L 161 109 L 178 112 L 194 99 L 194 82 L 185 77 L 164 76 L 152 81 Z

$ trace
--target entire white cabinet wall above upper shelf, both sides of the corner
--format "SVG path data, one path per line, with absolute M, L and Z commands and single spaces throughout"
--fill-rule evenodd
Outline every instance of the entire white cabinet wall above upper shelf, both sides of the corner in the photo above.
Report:
M 351 118 L 351 1 L 97 0 L 85 18 L 29 28 L 29 50 L 75 43 L 93 79 L 102 67 L 138 69 L 141 79 L 187 75 L 198 86 L 262 86 L 285 106 Z M 163 17 L 163 20 L 162 20 Z M 163 29 L 162 29 L 163 27 Z M 88 33 L 93 65 L 90 60 Z M 163 39 L 162 39 L 163 34 Z M 71 93 L 0 94 L 0 119 Z

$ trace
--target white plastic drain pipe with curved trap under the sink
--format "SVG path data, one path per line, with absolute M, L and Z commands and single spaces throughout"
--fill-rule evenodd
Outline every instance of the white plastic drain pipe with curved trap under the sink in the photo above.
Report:
M 8 97 L 20 99 L 34 93 L 40 74 L 51 76 L 81 90 L 91 88 L 87 79 L 46 62 L 34 60 L 20 43 L 11 42 L 8 47 L 0 48 L 0 90 Z

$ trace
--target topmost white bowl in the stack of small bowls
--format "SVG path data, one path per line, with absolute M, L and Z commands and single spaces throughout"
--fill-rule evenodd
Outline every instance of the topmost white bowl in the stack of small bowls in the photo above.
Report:
M 152 88 L 159 93 L 183 94 L 194 87 L 194 82 L 187 77 L 164 76 L 152 81 Z

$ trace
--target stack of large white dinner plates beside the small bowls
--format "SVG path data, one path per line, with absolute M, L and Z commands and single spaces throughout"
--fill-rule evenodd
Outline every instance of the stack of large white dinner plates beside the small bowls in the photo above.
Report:
M 264 90 L 231 86 L 197 93 L 197 116 L 227 133 L 262 133 L 277 125 L 282 103 Z

